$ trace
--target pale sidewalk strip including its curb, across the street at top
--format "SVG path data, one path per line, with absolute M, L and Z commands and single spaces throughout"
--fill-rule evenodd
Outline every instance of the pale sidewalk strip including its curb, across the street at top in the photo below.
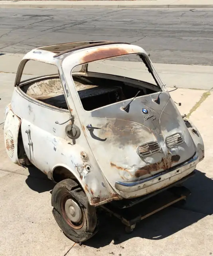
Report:
M 1 1 L 0 8 L 213 8 L 212 0 Z

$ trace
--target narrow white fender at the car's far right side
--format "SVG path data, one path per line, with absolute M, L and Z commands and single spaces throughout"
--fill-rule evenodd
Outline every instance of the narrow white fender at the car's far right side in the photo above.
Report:
M 189 130 L 189 133 L 191 135 L 191 138 L 193 139 L 193 142 L 195 143 L 197 152 L 199 154 L 199 162 L 200 162 L 203 160 L 205 156 L 204 143 L 203 143 L 201 134 L 199 133 L 199 131 L 197 130 L 197 127 L 193 124 L 193 122 L 189 120 L 189 118 L 184 116 L 183 120 L 185 122 L 187 129 Z

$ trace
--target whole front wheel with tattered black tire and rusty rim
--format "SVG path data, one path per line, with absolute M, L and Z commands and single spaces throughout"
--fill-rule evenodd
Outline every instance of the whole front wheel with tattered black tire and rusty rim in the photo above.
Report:
M 55 185 L 51 204 L 58 226 L 69 239 L 84 242 L 97 232 L 96 209 L 74 180 L 62 180 Z

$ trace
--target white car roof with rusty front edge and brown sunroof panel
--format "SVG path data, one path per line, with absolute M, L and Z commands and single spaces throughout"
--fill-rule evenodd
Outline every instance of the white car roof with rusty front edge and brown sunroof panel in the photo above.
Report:
M 79 64 L 83 64 L 94 60 L 134 53 L 147 54 L 143 48 L 127 42 L 83 41 L 34 48 L 28 52 L 22 60 L 37 60 L 39 62 L 57 65 L 57 63 L 67 58 L 69 55 L 74 57 L 75 54 L 76 58 L 82 55 L 83 61 L 80 61 Z

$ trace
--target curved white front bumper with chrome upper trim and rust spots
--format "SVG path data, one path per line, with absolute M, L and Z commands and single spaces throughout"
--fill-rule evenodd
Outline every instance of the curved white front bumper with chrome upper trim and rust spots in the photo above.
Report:
M 123 198 L 133 198 L 159 190 L 187 176 L 195 170 L 199 155 L 195 155 L 180 166 L 165 170 L 155 176 L 136 182 L 115 182 L 115 188 Z

